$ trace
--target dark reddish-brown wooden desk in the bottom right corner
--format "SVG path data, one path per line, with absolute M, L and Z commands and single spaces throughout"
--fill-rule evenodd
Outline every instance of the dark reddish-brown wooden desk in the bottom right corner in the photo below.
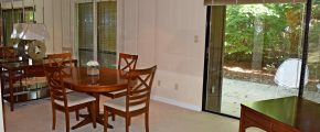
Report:
M 239 132 L 320 132 L 320 105 L 298 97 L 242 103 Z

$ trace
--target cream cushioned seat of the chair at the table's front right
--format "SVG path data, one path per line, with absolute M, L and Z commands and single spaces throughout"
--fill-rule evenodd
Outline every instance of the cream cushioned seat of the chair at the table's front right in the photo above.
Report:
M 126 111 L 126 97 L 120 97 L 116 99 L 108 100 L 104 103 L 104 106 L 120 110 L 120 111 Z M 129 111 L 136 111 L 139 109 L 142 109 L 146 107 L 146 103 L 137 105 L 129 107 Z

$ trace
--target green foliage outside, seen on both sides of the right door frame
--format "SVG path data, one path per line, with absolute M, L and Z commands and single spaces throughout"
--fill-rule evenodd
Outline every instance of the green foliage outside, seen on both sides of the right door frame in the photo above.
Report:
M 263 70 L 274 73 L 284 59 L 301 57 L 305 14 L 303 3 L 228 6 L 224 62 L 235 62 L 242 66 L 245 64 L 247 67 L 244 68 L 250 68 L 254 63 L 262 63 Z M 254 51 L 254 46 L 257 45 L 255 37 L 262 37 L 258 40 L 263 41 L 258 43 L 262 44 L 262 51 Z M 309 24 L 308 67 L 310 78 L 314 79 L 320 78 L 319 43 L 320 0 L 313 0 Z M 255 52 L 263 54 L 260 62 L 253 61 Z

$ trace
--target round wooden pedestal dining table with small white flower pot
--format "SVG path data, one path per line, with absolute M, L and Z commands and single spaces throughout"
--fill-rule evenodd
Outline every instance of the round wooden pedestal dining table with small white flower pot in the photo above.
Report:
M 96 116 L 99 113 L 99 95 L 128 87 L 128 80 L 124 76 L 126 73 L 119 69 L 99 68 L 98 75 L 88 75 L 87 67 L 68 67 L 64 69 L 68 76 L 63 79 L 65 87 L 81 92 L 87 92 L 96 98 Z M 97 117 L 97 122 L 103 123 L 102 118 Z M 72 127 L 76 129 L 90 123 L 92 118 L 85 117 L 83 121 Z

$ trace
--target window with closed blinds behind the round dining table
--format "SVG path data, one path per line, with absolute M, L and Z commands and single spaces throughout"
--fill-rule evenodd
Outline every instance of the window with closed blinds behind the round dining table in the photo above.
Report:
M 77 46 L 79 64 L 98 61 L 114 68 L 117 59 L 117 1 L 77 3 Z

